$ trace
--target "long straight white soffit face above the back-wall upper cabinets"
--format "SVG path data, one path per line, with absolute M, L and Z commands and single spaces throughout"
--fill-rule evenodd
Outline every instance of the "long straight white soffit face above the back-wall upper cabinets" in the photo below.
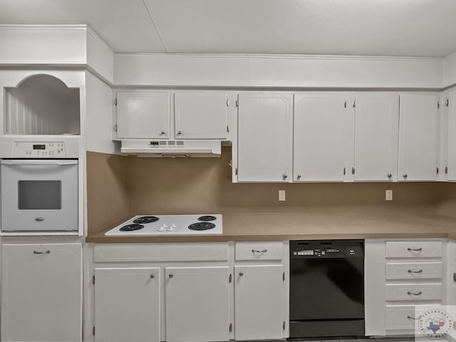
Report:
M 118 86 L 442 88 L 441 58 L 116 54 Z

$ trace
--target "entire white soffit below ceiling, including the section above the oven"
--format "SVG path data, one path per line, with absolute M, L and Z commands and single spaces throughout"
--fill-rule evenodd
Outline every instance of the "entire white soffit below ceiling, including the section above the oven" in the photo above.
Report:
M 86 25 L 0 25 L 0 66 L 81 66 L 116 86 L 432 88 L 456 83 L 446 58 L 117 54 Z

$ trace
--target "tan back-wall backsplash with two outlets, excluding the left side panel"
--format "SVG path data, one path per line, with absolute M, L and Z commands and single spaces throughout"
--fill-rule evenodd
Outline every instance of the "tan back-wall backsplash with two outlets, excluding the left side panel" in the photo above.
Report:
M 232 183 L 231 148 L 220 158 L 128 157 L 130 214 L 299 212 L 309 206 L 437 204 L 447 183 Z M 385 202 L 393 189 L 393 202 Z M 279 202 L 278 190 L 286 190 Z

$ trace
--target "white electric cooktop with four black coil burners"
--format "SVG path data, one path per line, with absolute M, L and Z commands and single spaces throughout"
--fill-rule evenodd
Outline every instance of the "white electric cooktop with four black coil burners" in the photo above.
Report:
M 221 214 L 138 215 L 105 232 L 115 236 L 189 236 L 222 234 Z

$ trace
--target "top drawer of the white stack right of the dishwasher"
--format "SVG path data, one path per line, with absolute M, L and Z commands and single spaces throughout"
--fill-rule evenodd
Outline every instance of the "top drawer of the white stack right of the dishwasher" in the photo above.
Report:
M 388 241 L 385 256 L 387 258 L 440 258 L 441 241 Z

